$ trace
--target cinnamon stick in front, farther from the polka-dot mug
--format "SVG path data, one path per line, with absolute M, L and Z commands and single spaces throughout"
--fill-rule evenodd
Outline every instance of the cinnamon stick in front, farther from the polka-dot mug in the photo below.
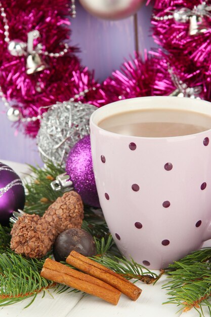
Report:
M 65 284 L 79 291 L 100 297 L 114 305 L 118 303 L 121 295 L 120 291 L 93 278 L 93 276 L 78 272 L 51 259 L 46 259 L 40 275 L 47 280 Z

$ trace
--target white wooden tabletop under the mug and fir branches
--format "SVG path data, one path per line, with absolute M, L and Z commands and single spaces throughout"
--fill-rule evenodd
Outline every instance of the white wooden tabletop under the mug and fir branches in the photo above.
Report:
M 4 162 L 12 167 L 21 178 L 29 173 L 27 166 L 8 162 Z M 208 242 L 209 246 L 211 245 Z M 56 294 L 53 290 L 49 290 L 53 297 L 46 293 L 42 299 L 42 294 L 38 294 L 35 301 L 28 308 L 24 307 L 31 299 L 23 300 L 17 304 L 0 307 L 1 317 L 178 317 L 182 314 L 184 317 L 198 317 L 198 313 L 192 309 L 186 313 L 177 313 L 179 308 L 172 304 L 162 303 L 167 300 L 166 291 L 162 289 L 162 285 L 167 281 L 166 276 L 153 286 L 145 285 L 141 282 L 137 283 L 142 289 L 142 294 L 136 302 L 128 297 L 121 295 L 117 306 L 113 306 L 100 298 L 83 295 L 82 293 L 62 293 Z M 210 316 L 207 309 L 204 309 L 204 316 Z

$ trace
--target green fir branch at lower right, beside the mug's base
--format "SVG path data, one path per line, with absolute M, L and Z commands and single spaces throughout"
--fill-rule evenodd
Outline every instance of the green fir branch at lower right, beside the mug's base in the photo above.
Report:
M 199 315 L 204 305 L 211 308 L 207 300 L 211 296 L 210 258 L 211 248 L 204 248 L 169 265 L 165 272 L 171 279 L 163 287 L 170 297 L 165 303 L 179 305 L 183 311 L 195 308 Z

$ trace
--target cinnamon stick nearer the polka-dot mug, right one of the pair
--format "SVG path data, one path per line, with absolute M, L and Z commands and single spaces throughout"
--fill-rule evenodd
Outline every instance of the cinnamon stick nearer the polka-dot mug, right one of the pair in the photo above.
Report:
M 124 279 L 123 276 L 77 253 L 76 251 L 70 252 L 66 262 L 80 269 L 81 271 L 86 272 L 105 283 L 108 283 L 133 300 L 137 300 L 142 292 L 139 287 Z

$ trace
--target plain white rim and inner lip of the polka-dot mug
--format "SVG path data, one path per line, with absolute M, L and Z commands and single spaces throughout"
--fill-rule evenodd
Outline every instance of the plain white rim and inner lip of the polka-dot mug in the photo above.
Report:
M 159 103 L 156 103 L 155 105 L 151 105 L 151 100 L 154 100 L 156 102 L 162 102 L 162 105 Z M 90 116 L 90 127 L 94 126 L 99 131 L 102 131 L 104 133 L 107 133 L 109 135 L 113 136 L 120 136 L 120 137 L 133 137 L 138 139 L 147 139 L 147 140 L 163 140 L 163 139 L 181 139 L 181 138 L 193 138 L 197 135 L 201 135 L 207 132 L 211 131 L 210 129 L 197 132 L 194 134 L 187 134 L 187 135 L 181 135 L 181 136 L 168 136 L 168 137 L 142 137 L 142 136 L 131 136 L 131 135 L 125 135 L 121 133 L 115 133 L 108 131 L 106 129 L 103 129 L 99 127 L 99 122 L 104 120 L 105 118 L 118 114 L 120 112 L 128 112 L 131 110 L 137 110 L 140 109 L 140 101 L 147 102 L 144 106 L 142 106 L 142 109 L 172 109 L 172 110 L 188 110 L 191 112 L 201 113 L 210 116 L 211 118 L 211 102 L 203 100 L 203 99 L 195 99 L 195 98 L 188 98 L 188 97 L 176 97 L 176 96 L 146 96 L 146 97 L 136 97 L 136 98 L 130 98 L 130 99 L 122 99 L 118 100 L 112 103 L 108 103 L 98 109 L 96 109 Z M 175 102 L 177 101 L 177 102 Z M 127 107 L 124 105 L 126 104 Z M 174 105 L 173 105 L 174 104 Z M 179 107 L 178 107 L 178 104 Z M 122 105 L 125 107 L 125 110 L 122 111 Z M 197 110 L 196 110 L 197 108 Z M 113 111 L 110 111 L 110 110 Z M 103 114 L 104 115 L 101 115 Z M 105 115 L 107 114 L 107 115 Z M 100 117 L 101 116 L 101 117 Z M 97 121 L 97 122 L 96 122 Z

